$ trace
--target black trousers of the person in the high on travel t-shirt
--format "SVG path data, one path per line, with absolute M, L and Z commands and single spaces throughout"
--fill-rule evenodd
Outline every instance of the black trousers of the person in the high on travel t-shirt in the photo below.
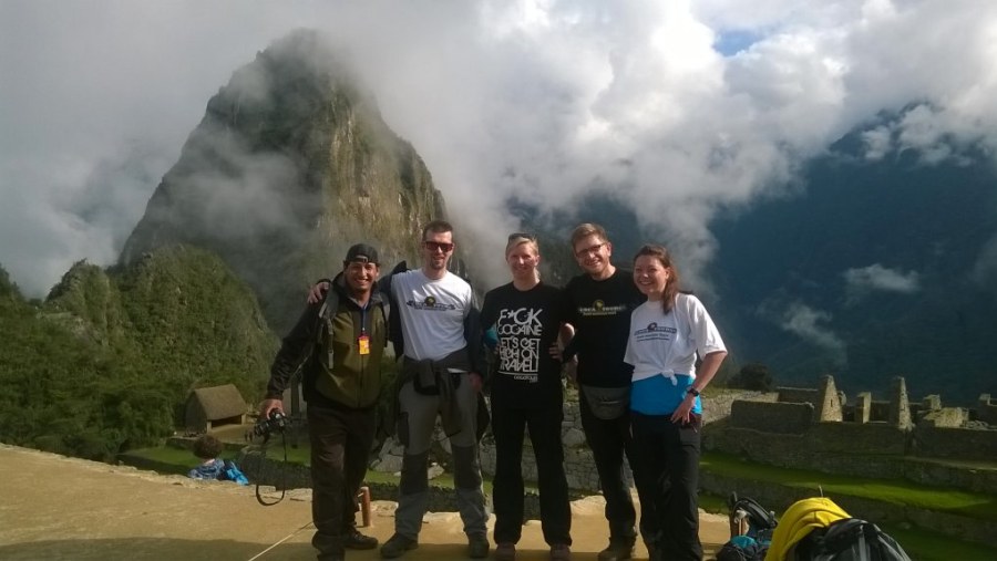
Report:
M 523 435 L 530 430 L 536 458 L 544 541 L 572 544 L 572 506 L 564 474 L 561 405 L 536 409 L 492 407 L 495 436 L 495 543 L 517 543 L 523 530 Z

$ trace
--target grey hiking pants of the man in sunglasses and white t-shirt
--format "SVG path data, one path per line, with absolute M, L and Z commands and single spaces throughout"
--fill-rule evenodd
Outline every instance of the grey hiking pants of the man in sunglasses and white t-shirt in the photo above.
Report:
M 453 484 L 458 510 L 464 522 L 464 533 L 484 536 L 489 515 L 481 487 L 481 460 L 477 455 L 477 392 L 467 374 L 460 376 L 454 389 L 455 406 L 461 415 L 461 429 L 450 436 L 453 455 Z M 394 531 L 407 538 L 418 539 L 422 517 L 429 506 L 426 467 L 436 415 L 440 412 L 439 395 L 415 392 L 412 382 L 405 383 L 398 394 L 398 437 L 405 447 L 402 475 L 399 484 L 398 510 L 394 512 Z

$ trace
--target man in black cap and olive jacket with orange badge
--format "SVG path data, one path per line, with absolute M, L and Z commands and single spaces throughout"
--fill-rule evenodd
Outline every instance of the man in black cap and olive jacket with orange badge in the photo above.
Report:
M 357 530 L 357 492 L 377 429 L 381 356 L 388 341 L 384 300 L 378 290 L 378 252 L 358 243 L 347 251 L 332 290 L 309 304 L 284 339 L 270 367 L 260 417 L 284 412 L 284 389 L 304 368 L 311 441 L 311 539 L 320 561 L 340 561 L 346 549 L 372 549 L 378 540 Z

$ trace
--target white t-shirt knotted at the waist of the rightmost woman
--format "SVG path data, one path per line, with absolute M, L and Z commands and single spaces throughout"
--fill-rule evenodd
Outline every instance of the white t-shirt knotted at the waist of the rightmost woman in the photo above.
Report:
M 696 378 L 696 353 L 706 356 L 727 351 L 720 332 L 698 298 L 678 294 L 667 315 L 661 302 L 645 302 L 630 315 L 630 336 L 625 361 L 634 365 L 633 381 L 661 374 Z

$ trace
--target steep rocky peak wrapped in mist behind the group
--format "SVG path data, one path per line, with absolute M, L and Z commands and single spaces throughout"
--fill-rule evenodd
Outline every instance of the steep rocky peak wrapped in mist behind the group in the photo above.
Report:
M 284 332 L 350 245 L 378 246 L 390 267 L 417 254 L 421 226 L 443 216 L 422 158 L 325 38 L 301 30 L 212 97 L 121 262 L 177 242 L 212 250 Z

